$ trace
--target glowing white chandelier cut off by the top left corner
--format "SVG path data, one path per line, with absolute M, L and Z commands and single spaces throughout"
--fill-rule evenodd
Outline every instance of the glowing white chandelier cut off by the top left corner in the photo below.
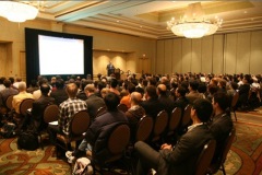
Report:
M 34 20 L 38 9 L 26 3 L 14 1 L 0 1 L 0 15 L 12 22 Z

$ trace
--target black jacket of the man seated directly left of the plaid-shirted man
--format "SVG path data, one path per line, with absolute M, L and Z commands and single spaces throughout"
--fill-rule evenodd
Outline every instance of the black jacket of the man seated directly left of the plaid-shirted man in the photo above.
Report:
M 33 102 L 32 119 L 38 122 L 37 128 L 44 129 L 47 124 L 44 122 L 44 112 L 49 104 L 56 104 L 56 100 L 51 96 L 41 95 L 38 100 Z

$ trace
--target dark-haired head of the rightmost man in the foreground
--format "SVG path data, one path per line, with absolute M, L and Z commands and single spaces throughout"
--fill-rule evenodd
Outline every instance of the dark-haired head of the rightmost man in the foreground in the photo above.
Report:
M 226 112 L 230 107 L 230 98 L 226 93 L 217 92 L 213 96 L 212 104 L 217 115 Z

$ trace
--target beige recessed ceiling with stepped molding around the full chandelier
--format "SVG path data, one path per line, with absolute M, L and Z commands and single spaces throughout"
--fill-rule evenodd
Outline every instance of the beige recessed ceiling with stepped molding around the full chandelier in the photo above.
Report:
M 38 20 L 164 39 L 177 37 L 166 22 L 179 19 L 199 1 L 44 1 Z M 223 19 L 217 33 L 262 30 L 262 1 L 202 1 L 211 20 Z

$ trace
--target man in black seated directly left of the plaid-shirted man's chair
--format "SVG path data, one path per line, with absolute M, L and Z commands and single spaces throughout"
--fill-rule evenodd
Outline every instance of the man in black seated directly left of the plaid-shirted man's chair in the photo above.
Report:
M 48 96 L 50 86 L 48 84 L 41 84 L 40 86 L 41 96 L 33 102 L 31 114 L 26 115 L 23 126 L 21 129 L 26 129 L 26 125 L 32 125 L 33 129 L 41 130 L 47 128 L 48 124 L 44 121 L 44 112 L 49 104 L 56 104 L 56 100 Z

